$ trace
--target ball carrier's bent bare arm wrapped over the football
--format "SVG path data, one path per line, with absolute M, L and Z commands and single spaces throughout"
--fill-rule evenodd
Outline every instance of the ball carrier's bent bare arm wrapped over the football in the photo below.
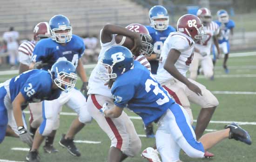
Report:
M 125 27 L 116 25 L 105 25 L 101 31 L 101 42 L 108 43 L 112 40 L 112 34 L 119 34 L 134 39 L 133 53 L 139 53 L 142 47 L 141 36 L 137 32 L 132 32 Z

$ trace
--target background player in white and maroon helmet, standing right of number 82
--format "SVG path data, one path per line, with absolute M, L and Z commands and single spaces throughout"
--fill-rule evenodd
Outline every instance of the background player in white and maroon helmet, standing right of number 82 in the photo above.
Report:
M 214 79 L 214 66 L 210 57 L 211 46 L 214 43 L 218 52 L 217 58 L 220 56 L 220 49 L 217 35 L 219 34 L 219 26 L 212 21 L 211 12 L 207 8 L 200 8 L 197 11 L 197 16 L 201 19 L 205 37 L 195 44 L 195 54 L 190 65 L 190 77 L 195 80 L 197 77 L 198 66 L 201 65 L 203 74 L 206 78 Z

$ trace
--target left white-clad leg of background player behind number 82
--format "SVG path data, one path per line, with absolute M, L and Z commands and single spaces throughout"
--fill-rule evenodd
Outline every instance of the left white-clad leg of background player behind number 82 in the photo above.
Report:
M 192 59 L 191 64 L 189 65 L 190 76 L 189 78 L 195 80 L 197 77 L 198 65 L 200 65 L 200 60 L 202 59 L 202 55 L 200 53 L 194 52 L 194 57 Z

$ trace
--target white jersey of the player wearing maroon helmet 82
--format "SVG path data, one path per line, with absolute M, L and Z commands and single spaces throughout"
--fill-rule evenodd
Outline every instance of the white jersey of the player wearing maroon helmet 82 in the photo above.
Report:
M 159 66 L 155 76 L 156 80 L 162 84 L 163 82 L 173 79 L 173 76 L 171 76 L 171 74 L 163 68 L 168 53 L 171 49 L 181 52 L 180 57 L 175 63 L 175 67 L 184 77 L 186 77 L 186 73 L 189 70 L 189 65 L 193 59 L 194 47 L 194 40 L 186 34 L 182 32 L 171 32 L 162 46 Z

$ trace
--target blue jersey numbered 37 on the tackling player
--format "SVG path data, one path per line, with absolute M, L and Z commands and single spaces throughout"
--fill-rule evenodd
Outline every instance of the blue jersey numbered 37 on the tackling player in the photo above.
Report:
M 116 106 L 127 106 L 142 118 L 145 125 L 159 119 L 175 103 L 138 61 L 134 62 L 134 69 L 116 78 L 111 92 Z

